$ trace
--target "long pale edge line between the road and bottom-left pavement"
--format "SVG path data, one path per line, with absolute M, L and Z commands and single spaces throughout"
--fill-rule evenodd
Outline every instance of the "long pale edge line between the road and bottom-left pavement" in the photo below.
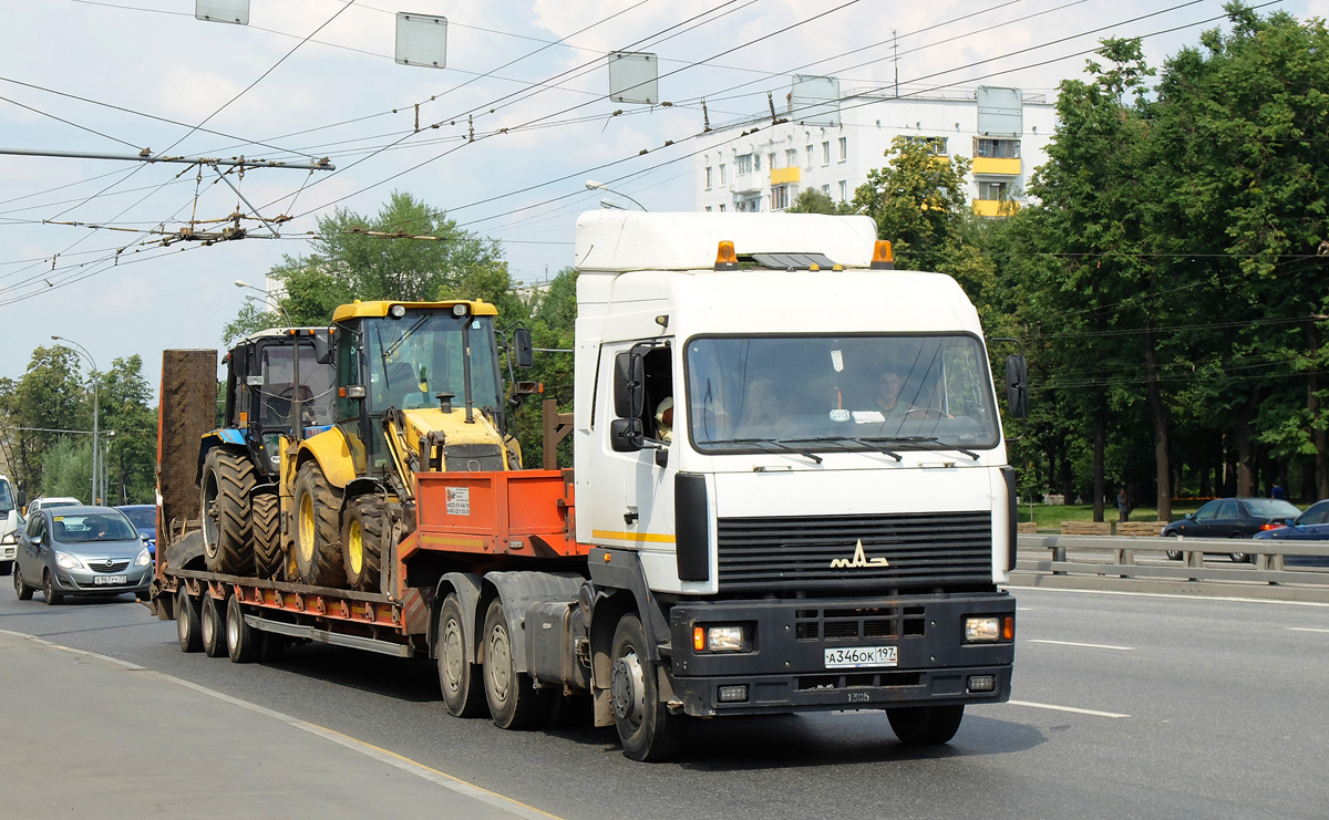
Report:
M 219 693 L 219 691 L 217 691 L 214 689 L 207 689 L 206 686 L 201 686 L 198 683 L 194 683 L 191 681 L 186 681 L 183 678 L 177 678 L 177 677 L 173 677 L 173 675 L 167 675 L 166 673 L 157 671 L 157 670 L 153 670 L 153 669 L 148 669 L 145 666 L 138 666 L 137 663 L 130 663 L 129 661 L 121 661 L 120 658 L 113 658 L 110 655 L 98 654 L 96 651 L 88 651 L 85 649 L 74 649 L 72 646 L 61 646 L 60 644 L 53 644 L 53 642 L 47 641 L 44 638 L 39 638 L 37 636 L 25 634 L 25 633 L 21 633 L 21 632 L 11 632 L 8 629 L 0 629 L 0 634 L 8 634 L 8 636 L 24 638 L 24 640 L 32 641 L 35 644 L 41 644 L 41 645 L 48 646 L 51 649 L 57 649 L 57 650 L 61 650 L 61 651 L 68 651 L 68 653 L 73 653 L 73 654 L 78 654 L 78 655 L 85 655 L 85 657 L 89 657 L 89 658 L 97 658 L 98 661 L 108 661 L 110 663 L 114 663 L 116 666 L 124 667 L 126 671 L 141 671 L 144 674 L 149 674 L 149 675 L 153 675 L 155 678 L 161 678 L 162 681 L 169 681 L 171 683 L 178 685 L 178 686 L 183 686 L 185 689 L 191 689 L 191 690 L 194 690 L 194 691 L 197 691 L 199 694 L 203 694 L 203 695 L 207 695 L 210 698 L 215 698 L 218 701 L 222 701 L 223 703 L 230 703 L 233 706 L 239 706 L 241 709 L 247 709 L 247 710 L 250 710 L 253 713 L 258 713 L 258 714 L 264 715 L 267 718 L 272 718 L 275 720 L 280 720 L 282 723 L 286 723 L 287 726 L 291 726 L 294 728 L 299 728 L 302 731 L 307 731 L 311 735 L 323 738 L 324 740 L 331 740 L 334 743 L 338 743 L 339 746 L 344 746 L 346 748 L 350 748 L 351 751 L 356 751 L 356 752 L 359 752 L 359 754 L 361 754 L 361 755 L 364 755 L 367 758 L 372 758 L 375 760 L 379 760 L 380 763 L 387 763 L 388 766 L 400 768 L 401 771 L 412 774 L 412 775 L 415 775 L 417 778 L 423 778 L 424 780 L 428 780 L 428 782 L 431 782 L 431 783 L 433 783 L 436 786 L 441 786 L 441 787 L 444 787 L 447 789 L 452 789 L 452 791 L 457 792 L 459 795 L 464 795 L 466 797 L 470 797 L 472 800 L 478 800 L 480 803 L 485 803 L 485 804 L 492 805 L 492 807 L 494 807 L 494 808 L 497 808 L 500 811 L 508 812 L 508 813 L 513 815 L 514 817 L 524 817 L 525 820 L 562 820 L 562 817 L 560 817 L 558 815 L 550 815 L 549 812 L 541 811 L 541 809 L 536 808 L 534 805 L 526 805 L 525 803 L 521 803 L 520 800 L 513 800 L 512 797 L 505 797 L 504 795 L 500 795 L 498 792 L 492 792 L 492 791 L 489 791 L 489 789 L 486 789 L 484 787 L 476 786 L 474 783 L 469 783 L 466 780 L 462 780 L 461 778 L 456 778 L 453 775 L 449 775 L 447 772 L 439 771 L 436 768 L 431 768 L 431 767 L 425 766 L 424 763 L 419 763 L 416 760 L 412 760 L 411 758 L 405 758 L 403 755 L 399 755 L 396 752 L 388 751 L 385 748 L 380 748 L 377 746 L 373 746 L 372 743 L 365 743 L 364 740 L 359 740 L 359 739 L 352 738 L 350 735 L 343 735 L 342 732 L 339 732 L 336 730 L 332 730 L 332 728 L 327 728 L 326 726 L 319 726 L 316 723 L 310 723 L 308 720 L 302 720 L 299 718 L 292 718 L 291 715 L 286 715 L 286 714 L 282 714 L 279 711 L 274 711 L 271 709 L 259 706 L 258 703 L 250 703 L 249 701 L 241 701 L 239 698 L 227 695 L 225 693 Z

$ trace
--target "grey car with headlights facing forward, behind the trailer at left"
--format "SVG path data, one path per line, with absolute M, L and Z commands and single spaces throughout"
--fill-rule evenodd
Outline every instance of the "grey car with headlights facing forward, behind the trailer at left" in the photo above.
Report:
M 47 604 L 65 596 L 148 596 L 153 559 L 125 513 L 112 507 L 43 507 L 28 516 L 13 565 L 20 601 L 40 585 Z

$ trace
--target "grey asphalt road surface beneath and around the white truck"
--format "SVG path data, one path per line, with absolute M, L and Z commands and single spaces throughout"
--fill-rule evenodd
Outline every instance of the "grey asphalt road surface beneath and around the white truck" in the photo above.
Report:
M 45 606 L 40 592 L 20 602 L 5 589 L 0 629 L 190 681 L 561 817 L 1329 813 L 1329 606 L 1015 594 L 1014 701 L 970 709 L 948 747 L 905 750 L 877 713 L 751 718 L 699 724 L 690 756 L 658 766 L 626 760 L 613 730 L 506 732 L 451 718 L 427 662 L 328 646 L 267 666 L 186 655 L 174 624 L 128 597 Z M 21 709 L 21 691 L 0 695 Z M 118 709 L 152 703 L 89 719 L 113 722 Z M 0 718 L 0 743 L 20 742 L 31 739 L 5 736 Z M 206 742 L 182 732 L 181 760 Z

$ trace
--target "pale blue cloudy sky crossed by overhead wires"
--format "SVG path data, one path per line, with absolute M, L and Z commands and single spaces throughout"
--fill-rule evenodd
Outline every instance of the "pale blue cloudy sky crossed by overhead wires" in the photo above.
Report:
M 1260 7 L 1276 9 L 1325 17 L 1329 0 Z M 631 207 L 587 179 L 651 211 L 694 210 L 694 138 L 760 114 L 768 93 L 779 103 L 793 74 L 1054 100 L 1100 38 L 1143 37 L 1162 66 L 1221 27 L 1223 1 L 250 0 L 249 25 L 194 12 L 195 0 L 0 0 L 0 151 L 335 170 L 222 180 L 0 153 L 0 377 L 20 378 L 54 334 L 102 370 L 141 356 L 155 393 L 163 349 L 221 348 L 259 297 L 237 279 L 262 288 L 283 256 L 310 253 L 319 216 L 373 215 L 392 191 L 498 240 L 513 279 L 540 283 L 571 264 L 579 212 Z M 447 20 L 444 68 L 393 60 L 397 12 Z M 659 105 L 609 100 L 613 50 L 658 57 Z M 241 240 L 178 240 L 191 219 L 219 231 L 255 211 L 290 218 L 280 238 L 246 219 Z

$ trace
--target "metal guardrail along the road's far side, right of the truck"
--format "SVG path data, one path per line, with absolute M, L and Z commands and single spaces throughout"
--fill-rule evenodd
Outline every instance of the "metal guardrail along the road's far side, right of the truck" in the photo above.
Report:
M 1045 551 L 1047 559 L 1039 557 Z M 1181 561 L 1168 560 L 1168 552 L 1181 552 Z M 1207 557 L 1235 552 L 1255 564 Z M 1021 535 L 1018 556 L 1015 586 L 1329 602 L 1329 567 L 1286 565 L 1288 556 L 1329 564 L 1329 541 Z

